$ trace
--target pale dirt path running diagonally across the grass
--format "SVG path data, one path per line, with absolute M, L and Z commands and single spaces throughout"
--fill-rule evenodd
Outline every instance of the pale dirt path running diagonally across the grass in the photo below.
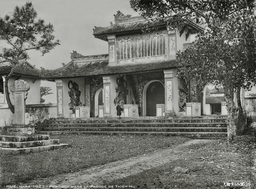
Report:
M 191 145 L 209 143 L 210 141 L 211 140 L 205 139 L 191 140 L 187 143 L 173 146 L 168 149 L 158 150 L 157 152 L 149 153 L 147 155 L 112 162 L 106 165 L 99 165 L 81 172 L 32 180 L 24 185 L 45 185 L 44 188 L 50 188 L 50 186 L 55 186 L 53 188 L 62 188 L 61 186 L 67 188 L 67 186 L 69 186 L 71 188 L 72 185 L 81 186 L 82 188 L 86 188 L 86 186 L 90 187 L 91 185 L 99 186 L 104 182 L 121 179 L 129 175 L 142 172 L 143 170 L 148 170 L 152 167 L 157 167 L 172 160 L 176 160 L 184 155 L 184 150 L 189 148 Z

